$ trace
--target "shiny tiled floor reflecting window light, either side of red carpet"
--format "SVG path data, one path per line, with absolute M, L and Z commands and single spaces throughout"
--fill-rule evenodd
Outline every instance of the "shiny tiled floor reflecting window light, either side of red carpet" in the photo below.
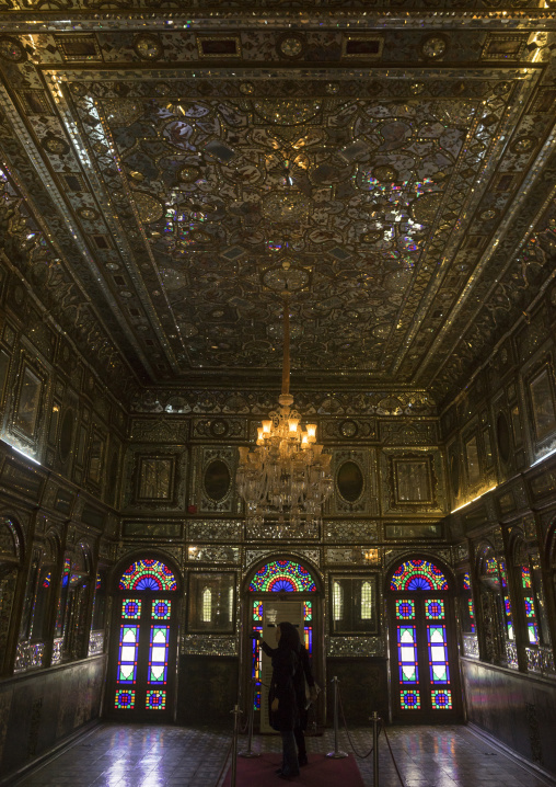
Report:
M 546 787 L 549 784 L 465 727 L 393 727 L 387 732 L 405 787 Z M 361 754 L 371 746 L 369 730 L 356 730 L 351 739 Z M 240 751 L 245 743 L 242 738 Z M 344 735 L 340 744 L 350 751 Z M 229 746 L 228 731 L 104 723 L 14 784 L 18 787 L 218 787 Z M 255 738 L 256 751 L 278 751 L 279 746 L 278 738 Z M 309 738 L 308 749 L 331 751 L 332 731 Z M 372 757 L 358 760 L 358 764 L 366 787 L 372 787 Z M 380 787 L 401 787 L 382 735 Z

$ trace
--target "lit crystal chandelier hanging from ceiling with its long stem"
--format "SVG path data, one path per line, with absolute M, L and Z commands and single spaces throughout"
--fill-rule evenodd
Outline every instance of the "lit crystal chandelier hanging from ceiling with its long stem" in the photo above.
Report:
M 290 395 L 290 316 L 283 308 L 283 366 L 280 408 L 258 427 L 256 447 L 240 448 L 236 483 L 245 500 L 247 522 L 262 525 L 317 527 L 321 510 L 333 488 L 331 454 L 316 443 L 316 424 L 300 426 Z

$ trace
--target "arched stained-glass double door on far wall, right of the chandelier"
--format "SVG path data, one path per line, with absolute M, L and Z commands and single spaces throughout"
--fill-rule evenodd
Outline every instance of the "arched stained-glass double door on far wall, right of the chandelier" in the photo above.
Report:
M 398 564 L 387 606 L 394 721 L 461 720 L 453 595 L 444 573 L 428 560 Z

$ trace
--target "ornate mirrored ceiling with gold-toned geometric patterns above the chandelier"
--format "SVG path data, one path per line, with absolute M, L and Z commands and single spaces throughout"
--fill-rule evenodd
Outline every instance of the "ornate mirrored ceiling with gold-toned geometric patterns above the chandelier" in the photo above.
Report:
M 265 380 L 286 293 L 306 381 L 444 395 L 544 284 L 552 12 L 16 11 L 0 152 L 48 250 L 27 272 L 61 312 L 60 276 L 85 293 L 140 378 Z

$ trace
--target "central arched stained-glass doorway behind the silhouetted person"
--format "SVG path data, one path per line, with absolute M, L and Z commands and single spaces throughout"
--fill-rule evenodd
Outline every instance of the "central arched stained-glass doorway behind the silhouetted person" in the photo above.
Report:
M 263 632 L 273 648 L 276 624 L 289 620 L 299 626 L 300 639 L 305 646 L 316 682 L 323 686 L 324 648 L 322 643 L 321 594 L 312 571 L 293 560 L 274 560 L 260 566 L 248 584 L 245 604 L 244 696 L 250 696 L 250 683 L 255 678 L 255 726 L 262 732 L 271 732 L 268 726 L 267 694 L 271 677 L 270 660 L 263 654 L 253 631 Z M 314 649 L 313 649 L 314 645 Z M 310 725 L 324 723 L 324 700 L 312 709 Z

